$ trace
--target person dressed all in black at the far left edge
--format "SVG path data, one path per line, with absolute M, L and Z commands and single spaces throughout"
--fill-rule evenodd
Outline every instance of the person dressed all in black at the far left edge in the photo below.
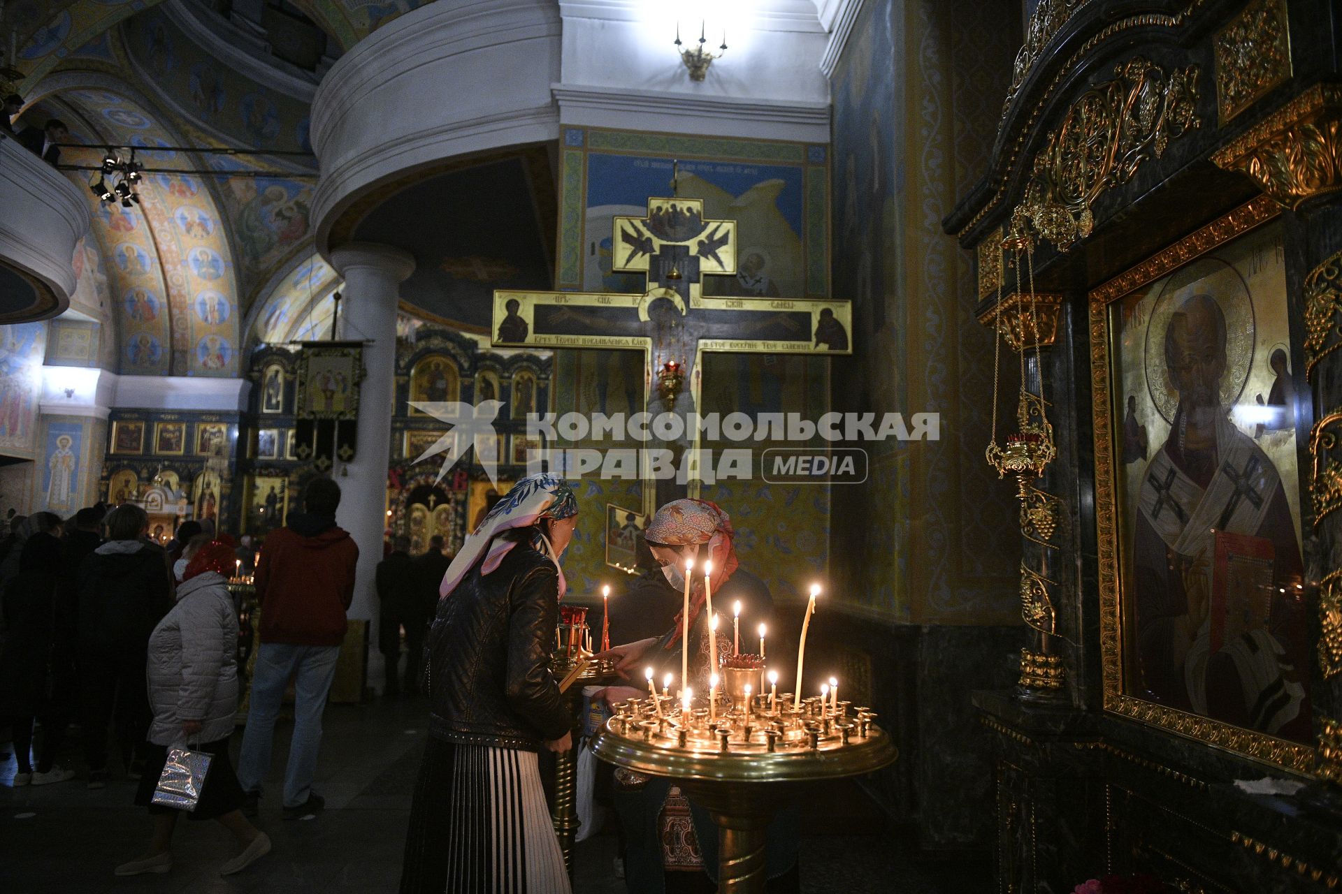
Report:
M 46 529 L 24 543 L 19 574 L 4 588 L 9 635 L 0 655 L 0 680 L 5 681 L 0 717 L 8 717 L 13 725 L 16 788 L 63 783 L 75 775 L 55 765 L 74 686 L 72 619 L 56 599 L 60 520 L 50 512 L 39 512 L 32 520 Z M 34 721 L 42 724 L 43 733 L 36 771 L 30 760 Z

